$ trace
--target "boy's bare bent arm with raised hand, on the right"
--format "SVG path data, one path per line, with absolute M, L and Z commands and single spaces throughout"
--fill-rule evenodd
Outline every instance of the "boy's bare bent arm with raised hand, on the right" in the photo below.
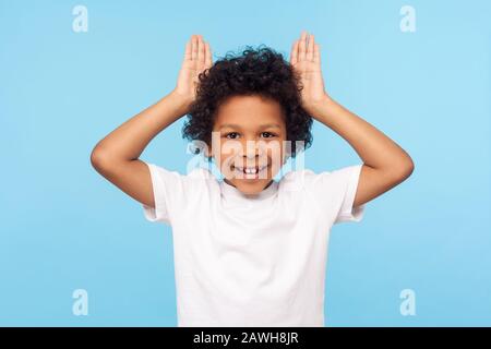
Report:
M 306 111 L 345 139 L 363 160 L 354 207 L 383 194 L 412 173 L 412 159 L 400 146 L 325 92 L 320 47 L 313 35 L 302 32 L 294 43 L 290 63 L 303 86 Z

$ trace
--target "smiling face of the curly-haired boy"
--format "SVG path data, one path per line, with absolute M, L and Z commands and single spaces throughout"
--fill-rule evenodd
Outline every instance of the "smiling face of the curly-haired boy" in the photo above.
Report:
M 277 101 L 256 95 L 233 96 L 217 110 L 211 154 L 228 184 L 254 195 L 272 183 L 285 163 L 286 139 Z

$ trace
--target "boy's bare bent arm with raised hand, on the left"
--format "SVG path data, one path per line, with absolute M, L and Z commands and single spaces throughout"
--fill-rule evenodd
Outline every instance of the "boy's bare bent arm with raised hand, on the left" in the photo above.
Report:
M 177 87 L 118 127 L 92 151 L 91 163 L 97 172 L 142 204 L 155 207 L 149 169 L 139 157 L 159 132 L 188 112 L 195 98 L 197 76 L 212 65 L 211 57 L 208 44 L 201 35 L 193 35 L 185 46 Z

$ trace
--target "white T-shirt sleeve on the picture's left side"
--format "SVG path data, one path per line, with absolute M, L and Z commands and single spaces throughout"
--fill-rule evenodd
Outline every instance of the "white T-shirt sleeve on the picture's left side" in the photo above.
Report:
M 152 178 L 155 208 L 143 204 L 144 216 L 152 222 L 170 225 L 172 207 L 179 206 L 178 202 L 182 197 L 183 176 L 154 164 L 145 164 Z

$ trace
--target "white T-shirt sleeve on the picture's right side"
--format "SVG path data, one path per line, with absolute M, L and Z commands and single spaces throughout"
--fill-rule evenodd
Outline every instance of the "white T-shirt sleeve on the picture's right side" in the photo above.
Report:
M 333 218 L 333 224 L 360 221 L 364 205 L 354 207 L 362 165 L 344 167 L 321 173 L 310 172 L 310 192 L 320 205 L 321 212 Z

